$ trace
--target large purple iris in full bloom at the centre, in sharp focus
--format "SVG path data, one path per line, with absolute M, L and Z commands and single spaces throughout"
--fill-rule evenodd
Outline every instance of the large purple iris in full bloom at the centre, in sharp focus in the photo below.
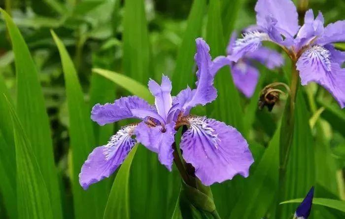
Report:
M 100 125 L 126 118 L 142 121 L 122 127 L 107 145 L 96 147 L 91 152 L 79 174 L 79 183 L 84 189 L 109 177 L 136 143 L 156 152 L 159 161 L 171 171 L 174 135 L 183 125 L 189 128 L 181 137 L 182 156 L 193 165 L 195 175 L 203 184 L 231 180 L 237 174 L 248 176 L 249 167 L 254 161 L 241 133 L 223 122 L 189 114 L 193 107 L 204 106 L 216 99 L 213 79 L 216 71 L 222 67 L 220 62 L 212 62 L 209 47 L 202 38 L 196 39 L 196 44 L 198 80 L 195 89 L 187 86 L 176 97 L 172 97 L 172 83 L 163 75 L 160 85 L 152 79 L 148 82 L 148 88 L 155 97 L 154 106 L 137 96 L 130 96 L 115 100 L 112 104 L 93 107 L 91 119 Z M 223 60 L 223 57 L 217 60 Z

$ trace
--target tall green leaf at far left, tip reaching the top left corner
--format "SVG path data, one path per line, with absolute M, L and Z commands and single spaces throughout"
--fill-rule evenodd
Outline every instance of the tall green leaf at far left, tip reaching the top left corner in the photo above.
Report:
M 17 75 L 17 112 L 48 188 L 54 218 L 62 218 L 60 188 L 54 164 L 50 125 L 35 63 L 9 15 L 1 10 L 14 52 Z M 18 197 L 19 198 L 19 197 Z

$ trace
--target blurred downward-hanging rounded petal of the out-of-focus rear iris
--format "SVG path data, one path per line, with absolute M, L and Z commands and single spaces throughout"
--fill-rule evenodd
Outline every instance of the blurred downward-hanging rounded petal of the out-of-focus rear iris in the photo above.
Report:
M 231 67 L 231 73 L 237 89 L 250 98 L 258 83 L 259 71 L 248 63 L 238 62 Z

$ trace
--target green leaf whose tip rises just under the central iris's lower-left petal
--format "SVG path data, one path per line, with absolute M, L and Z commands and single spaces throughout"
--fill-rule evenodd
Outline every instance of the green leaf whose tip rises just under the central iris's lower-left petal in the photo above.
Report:
M 111 187 L 111 191 L 108 197 L 104 211 L 104 219 L 109 218 L 121 218 L 129 219 L 129 178 L 130 169 L 134 155 L 136 154 L 138 145 L 134 146 L 131 152 L 128 154 L 125 161 L 122 163 L 114 183 Z

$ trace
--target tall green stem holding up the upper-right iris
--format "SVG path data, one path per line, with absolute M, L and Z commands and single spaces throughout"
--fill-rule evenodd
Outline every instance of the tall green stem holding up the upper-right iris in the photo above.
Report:
M 279 141 L 279 181 L 278 201 L 283 201 L 285 194 L 286 166 L 289 160 L 295 125 L 295 102 L 298 89 L 298 72 L 296 61 L 292 61 L 291 68 L 290 96 L 286 102 L 285 110 L 281 120 L 280 141 Z M 277 206 L 277 218 L 281 217 L 281 205 Z

